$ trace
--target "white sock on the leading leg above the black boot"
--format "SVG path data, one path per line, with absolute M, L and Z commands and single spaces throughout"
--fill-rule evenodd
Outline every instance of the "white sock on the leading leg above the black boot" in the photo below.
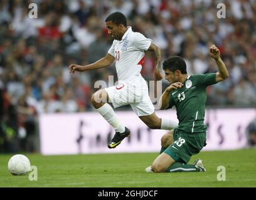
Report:
M 105 103 L 102 107 L 98 108 L 97 111 L 103 116 L 103 118 L 119 133 L 124 133 L 125 126 L 117 118 L 112 107 Z

